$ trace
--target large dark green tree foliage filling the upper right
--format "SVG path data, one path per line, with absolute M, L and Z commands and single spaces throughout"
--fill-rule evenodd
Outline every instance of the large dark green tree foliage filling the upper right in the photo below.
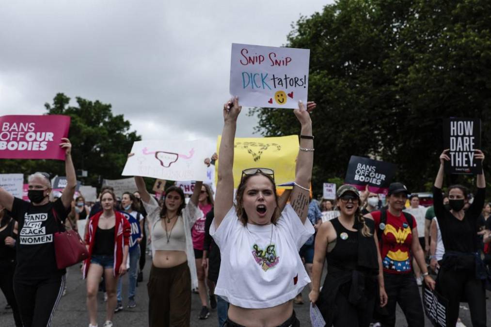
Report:
M 442 151 L 442 119 L 482 119 L 491 154 L 491 2 L 339 0 L 302 17 L 288 47 L 310 49 L 316 193 L 343 177 L 351 155 L 398 165 L 422 191 Z M 298 133 L 285 109 L 254 109 L 265 136 Z M 489 170 L 485 161 L 485 171 Z

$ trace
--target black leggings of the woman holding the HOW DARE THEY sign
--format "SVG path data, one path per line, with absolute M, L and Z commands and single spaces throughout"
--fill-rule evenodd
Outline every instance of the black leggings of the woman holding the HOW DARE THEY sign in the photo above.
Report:
M 441 295 L 448 300 L 447 326 L 455 327 L 463 295 L 469 304 L 472 326 L 486 326 L 486 292 L 482 280 L 475 277 L 474 271 L 440 269 L 436 286 Z

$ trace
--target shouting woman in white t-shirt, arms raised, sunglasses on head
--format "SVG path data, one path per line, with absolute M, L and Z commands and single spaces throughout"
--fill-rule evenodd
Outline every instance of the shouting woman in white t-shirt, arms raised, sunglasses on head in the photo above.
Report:
M 314 233 L 306 218 L 314 158 L 309 111 L 315 106 L 309 102 L 305 109 L 300 102 L 294 110 L 301 132 L 293 190 L 278 198 L 273 170 L 251 167 L 242 172 L 235 205 L 234 136 L 242 107 L 237 97 L 223 106 L 210 235 L 221 253 L 215 294 L 230 303 L 224 326 L 300 326 L 293 299 L 310 282 L 299 250 Z M 291 205 L 285 205 L 290 195 Z

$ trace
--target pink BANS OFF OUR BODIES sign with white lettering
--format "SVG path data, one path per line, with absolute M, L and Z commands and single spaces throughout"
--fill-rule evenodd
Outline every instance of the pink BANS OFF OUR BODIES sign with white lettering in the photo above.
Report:
M 0 117 L 0 159 L 65 160 L 59 147 L 68 136 L 70 116 L 7 115 Z

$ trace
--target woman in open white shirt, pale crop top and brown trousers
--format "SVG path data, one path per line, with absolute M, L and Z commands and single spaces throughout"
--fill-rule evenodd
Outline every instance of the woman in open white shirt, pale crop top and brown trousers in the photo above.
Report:
M 132 154 L 130 154 L 131 156 Z M 163 208 L 135 176 L 147 212 L 152 240 L 152 269 L 148 278 L 148 325 L 187 327 L 191 319 L 191 289 L 198 287 L 191 227 L 203 213 L 198 208 L 202 182 L 196 182 L 188 204 L 180 187 L 165 190 Z

